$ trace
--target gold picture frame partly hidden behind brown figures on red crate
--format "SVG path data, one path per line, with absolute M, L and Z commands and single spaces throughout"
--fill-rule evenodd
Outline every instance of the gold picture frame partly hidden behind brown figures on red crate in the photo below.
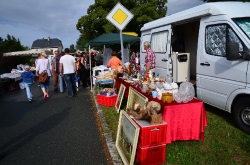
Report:
M 148 98 L 136 91 L 134 88 L 129 87 L 128 102 L 126 108 L 134 109 L 133 106 L 136 102 L 140 104 L 141 108 L 146 109 Z

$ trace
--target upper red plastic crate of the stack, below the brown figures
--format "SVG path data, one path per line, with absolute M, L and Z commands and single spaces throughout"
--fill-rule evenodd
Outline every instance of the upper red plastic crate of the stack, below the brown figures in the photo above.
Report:
M 167 144 L 167 123 L 150 125 L 146 120 L 134 120 L 140 127 L 138 145 L 142 148 Z

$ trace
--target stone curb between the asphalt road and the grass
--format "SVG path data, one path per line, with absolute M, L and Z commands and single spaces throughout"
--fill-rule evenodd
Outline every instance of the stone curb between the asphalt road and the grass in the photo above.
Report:
M 103 128 L 103 130 L 109 130 L 108 124 L 106 123 L 105 117 L 103 115 L 103 111 L 100 108 L 99 104 L 97 103 L 94 90 L 93 90 L 92 94 L 93 94 L 93 98 L 95 101 L 97 114 L 98 114 L 98 117 L 99 117 L 101 124 L 102 124 L 102 128 Z M 111 133 L 104 133 L 104 136 L 105 136 L 105 140 L 106 140 L 109 154 L 112 158 L 113 164 L 114 165 L 122 165 L 123 163 L 122 163 L 122 161 L 118 155 L 118 152 L 116 150 L 116 146 L 115 146 L 115 143 L 113 142 L 112 134 Z

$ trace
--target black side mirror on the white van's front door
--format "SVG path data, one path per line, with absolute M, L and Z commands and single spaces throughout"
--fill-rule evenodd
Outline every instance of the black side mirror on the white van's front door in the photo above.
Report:
M 239 58 L 239 44 L 228 43 L 226 48 L 226 57 L 229 61 L 235 61 Z

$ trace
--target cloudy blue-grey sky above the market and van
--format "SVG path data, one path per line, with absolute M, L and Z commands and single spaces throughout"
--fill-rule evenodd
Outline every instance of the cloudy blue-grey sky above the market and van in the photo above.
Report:
M 7 34 L 31 47 L 36 39 L 58 38 L 64 48 L 76 44 L 78 19 L 86 15 L 94 0 L 0 0 L 0 37 Z M 202 4 L 201 0 L 168 0 L 168 12 L 176 12 Z

